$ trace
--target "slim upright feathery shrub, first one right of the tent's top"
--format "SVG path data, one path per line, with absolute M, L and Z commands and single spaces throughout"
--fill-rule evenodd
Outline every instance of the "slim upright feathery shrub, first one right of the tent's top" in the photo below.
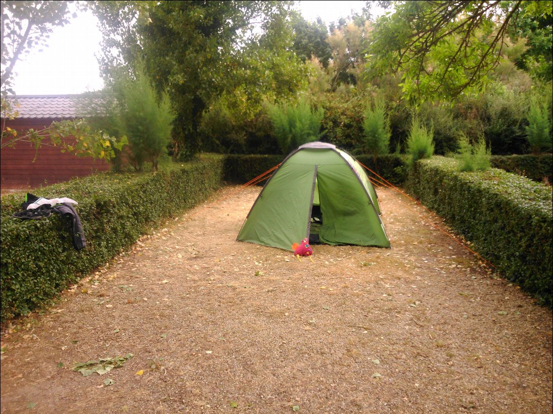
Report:
M 367 152 L 376 162 L 379 155 L 390 152 L 390 121 L 386 113 L 386 104 L 382 97 L 374 98 L 374 103 L 368 103 L 363 112 L 363 131 Z

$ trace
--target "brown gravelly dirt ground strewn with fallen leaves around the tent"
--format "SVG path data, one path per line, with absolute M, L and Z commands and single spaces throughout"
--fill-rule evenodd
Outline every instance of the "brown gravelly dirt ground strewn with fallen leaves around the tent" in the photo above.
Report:
M 300 263 L 236 241 L 259 188 L 235 190 L 4 327 L 0 412 L 552 412 L 551 311 L 419 214 L 439 217 L 380 189 L 392 249 Z

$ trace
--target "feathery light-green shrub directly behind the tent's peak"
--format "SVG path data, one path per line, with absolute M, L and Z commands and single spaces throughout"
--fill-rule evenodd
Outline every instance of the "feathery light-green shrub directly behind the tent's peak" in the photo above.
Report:
M 304 98 L 296 105 L 269 105 L 267 112 L 283 153 L 319 139 L 324 111 L 312 109 Z

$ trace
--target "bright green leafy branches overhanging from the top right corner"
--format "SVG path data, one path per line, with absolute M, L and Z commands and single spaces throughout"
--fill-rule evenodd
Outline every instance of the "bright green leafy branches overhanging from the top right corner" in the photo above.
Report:
M 456 97 L 478 88 L 501 59 L 523 14 L 551 15 L 551 2 L 398 1 L 378 19 L 368 47 L 373 75 L 402 72 L 411 97 Z

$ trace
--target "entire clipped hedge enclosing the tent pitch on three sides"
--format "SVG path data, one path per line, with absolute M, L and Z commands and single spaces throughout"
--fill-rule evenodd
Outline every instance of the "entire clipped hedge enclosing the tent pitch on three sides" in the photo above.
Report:
M 1 320 L 48 304 L 160 220 L 205 200 L 223 179 L 246 183 L 283 158 L 204 155 L 157 173 L 107 173 L 34 190 L 42 197 L 79 201 L 76 209 L 87 240 L 80 252 L 58 217 L 15 219 L 11 215 L 20 210 L 22 194 L 2 197 Z M 395 185 L 404 184 L 408 176 L 401 156 L 379 156 L 376 164 L 372 156 L 356 158 Z M 500 272 L 551 307 L 550 187 L 498 169 L 460 173 L 455 161 L 442 157 L 417 163 L 408 185 Z

